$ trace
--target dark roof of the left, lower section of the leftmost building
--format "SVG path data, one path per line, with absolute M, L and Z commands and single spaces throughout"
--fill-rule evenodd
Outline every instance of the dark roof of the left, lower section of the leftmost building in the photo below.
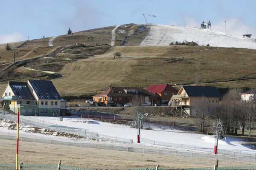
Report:
M 9 86 L 17 99 L 35 100 L 34 96 L 29 90 L 27 82 L 9 82 Z

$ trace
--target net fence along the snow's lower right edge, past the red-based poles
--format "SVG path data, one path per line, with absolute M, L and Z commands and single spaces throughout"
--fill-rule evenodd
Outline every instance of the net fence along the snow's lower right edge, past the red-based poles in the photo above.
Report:
M 140 138 L 140 142 L 148 143 L 148 144 L 154 144 L 154 145 L 160 145 L 160 146 L 166 146 L 166 147 L 177 147 L 182 149 L 189 149 L 189 150 L 201 150 L 208 153 L 213 153 L 213 149 L 209 147 L 201 147 L 201 146 L 195 146 L 195 145 L 189 145 L 189 144 L 174 144 L 169 142 L 159 142 L 155 140 Z M 240 156 L 240 157 L 246 157 L 246 158 L 254 158 L 256 159 L 256 153 L 244 153 L 244 152 L 236 152 L 233 150 L 225 150 L 225 149 L 218 149 L 218 154 L 222 155 L 229 155 L 229 156 Z

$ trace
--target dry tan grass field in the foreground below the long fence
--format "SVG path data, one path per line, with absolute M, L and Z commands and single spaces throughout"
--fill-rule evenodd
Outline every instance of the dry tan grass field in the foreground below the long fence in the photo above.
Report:
M 15 141 L 0 139 L 0 162 L 15 163 Z M 26 164 L 58 164 L 89 169 L 118 169 L 154 167 L 162 168 L 213 167 L 214 159 L 199 159 L 177 156 L 161 156 L 143 153 L 131 153 L 116 150 L 101 150 L 20 142 L 19 161 Z M 219 166 L 255 166 L 255 163 L 219 160 Z

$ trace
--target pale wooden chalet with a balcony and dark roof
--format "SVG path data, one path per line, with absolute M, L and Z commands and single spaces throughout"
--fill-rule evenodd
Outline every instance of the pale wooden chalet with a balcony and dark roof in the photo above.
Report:
M 177 95 L 172 96 L 169 106 L 180 108 L 181 113 L 183 111 L 188 115 L 195 115 L 196 107 L 204 102 L 209 106 L 209 111 L 214 112 L 220 97 L 218 90 L 213 86 L 183 85 Z

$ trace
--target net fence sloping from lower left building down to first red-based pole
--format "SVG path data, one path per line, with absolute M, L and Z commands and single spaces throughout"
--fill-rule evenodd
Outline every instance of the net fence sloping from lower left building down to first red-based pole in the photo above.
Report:
M 0 113 L 0 117 L 3 119 L 9 119 L 11 121 L 16 121 L 16 119 L 17 119 L 16 115 L 11 116 L 11 115 L 2 114 L 2 113 Z M 41 127 L 44 129 L 64 132 L 64 133 L 72 133 L 75 135 L 98 139 L 98 140 L 103 140 L 103 141 L 113 141 L 113 142 L 122 142 L 122 143 L 132 143 L 133 142 L 132 139 L 124 139 L 124 138 L 118 138 L 118 137 L 114 137 L 114 136 L 102 135 L 102 134 L 92 132 L 89 130 L 53 124 L 53 123 L 49 123 L 49 122 L 44 122 L 44 120 L 33 119 L 31 117 L 26 117 L 26 116 L 23 116 L 23 118 L 20 117 L 20 123 L 24 123 L 26 125 L 31 125 L 34 127 Z

